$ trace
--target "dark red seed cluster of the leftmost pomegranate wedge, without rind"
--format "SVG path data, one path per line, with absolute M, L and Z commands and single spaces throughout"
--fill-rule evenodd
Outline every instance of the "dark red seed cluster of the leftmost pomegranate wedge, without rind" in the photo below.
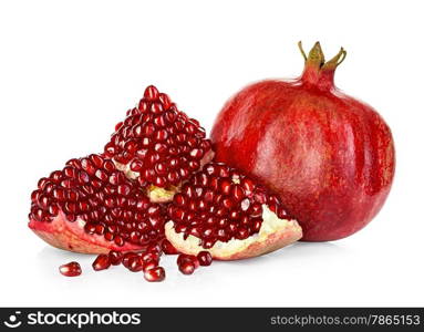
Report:
M 146 246 L 164 234 L 163 207 L 101 155 L 71 159 L 62 170 L 41 178 L 31 200 L 30 219 L 49 222 L 63 212 L 68 221 L 84 220 L 86 234 L 118 247 Z

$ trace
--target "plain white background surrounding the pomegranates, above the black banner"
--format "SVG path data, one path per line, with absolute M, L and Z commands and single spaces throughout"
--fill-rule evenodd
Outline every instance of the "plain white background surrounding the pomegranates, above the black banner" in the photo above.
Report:
M 424 305 L 422 1 L 2 1 L 0 305 Z M 397 168 L 380 215 L 335 242 L 214 262 L 192 277 L 175 257 L 148 283 L 48 247 L 27 227 L 30 193 L 71 157 L 100 152 L 156 84 L 209 131 L 251 81 L 297 76 L 320 40 L 348 58 L 337 85 L 391 125 Z M 61 263 L 79 260 L 80 278 Z

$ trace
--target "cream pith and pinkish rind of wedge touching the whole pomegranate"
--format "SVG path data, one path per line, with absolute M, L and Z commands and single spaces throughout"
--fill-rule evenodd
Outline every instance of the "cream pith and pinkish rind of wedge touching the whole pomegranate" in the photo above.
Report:
M 279 219 L 267 206 L 263 206 L 262 218 L 259 234 L 245 240 L 217 241 L 210 249 L 203 248 L 194 236 L 184 239 L 184 234 L 175 231 L 173 221 L 165 224 L 165 236 L 179 252 L 197 256 L 200 251 L 209 251 L 215 260 L 239 260 L 266 255 L 302 238 L 302 229 L 297 220 Z

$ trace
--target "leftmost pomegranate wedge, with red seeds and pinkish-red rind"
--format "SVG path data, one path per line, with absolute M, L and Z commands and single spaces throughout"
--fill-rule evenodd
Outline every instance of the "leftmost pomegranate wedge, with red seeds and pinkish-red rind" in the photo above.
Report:
M 41 178 L 31 200 L 29 227 L 56 248 L 108 253 L 141 250 L 164 237 L 163 207 L 101 155 L 71 159 Z

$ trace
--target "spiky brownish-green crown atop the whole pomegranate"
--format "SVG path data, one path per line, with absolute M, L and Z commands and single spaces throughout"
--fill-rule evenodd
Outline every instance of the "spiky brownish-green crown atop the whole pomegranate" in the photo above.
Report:
M 334 87 L 334 72 L 339 64 L 344 61 L 347 51 L 340 48 L 339 53 L 334 58 L 325 61 L 320 42 L 316 42 L 308 55 L 303 51 L 301 41 L 298 45 L 304 59 L 304 70 L 300 80 L 320 90 L 331 90 Z

